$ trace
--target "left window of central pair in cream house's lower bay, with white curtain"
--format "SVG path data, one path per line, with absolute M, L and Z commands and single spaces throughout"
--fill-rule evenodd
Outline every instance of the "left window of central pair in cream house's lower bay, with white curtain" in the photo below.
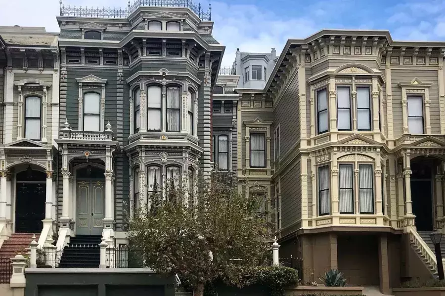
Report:
M 354 213 L 353 167 L 350 164 L 339 165 L 338 186 L 340 214 Z

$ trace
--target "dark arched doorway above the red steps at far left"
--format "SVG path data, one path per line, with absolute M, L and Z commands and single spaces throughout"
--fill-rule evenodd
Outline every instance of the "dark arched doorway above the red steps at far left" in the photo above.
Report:
M 40 233 L 45 219 L 46 175 L 31 166 L 16 175 L 15 232 Z

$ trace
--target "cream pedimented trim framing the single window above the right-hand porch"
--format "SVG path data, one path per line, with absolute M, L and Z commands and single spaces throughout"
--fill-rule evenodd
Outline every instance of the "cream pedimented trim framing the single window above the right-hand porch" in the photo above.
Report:
M 424 133 L 431 134 L 430 120 L 430 88 L 431 84 L 422 83 L 419 78 L 414 78 L 411 82 L 400 82 L 399 87 L 402 90 L 402 114 L 403 114 L 403 134 L 409 134 L 408 127 L 408 95 L 419 96 L 423 98 L 423 117 L 424 117 Z

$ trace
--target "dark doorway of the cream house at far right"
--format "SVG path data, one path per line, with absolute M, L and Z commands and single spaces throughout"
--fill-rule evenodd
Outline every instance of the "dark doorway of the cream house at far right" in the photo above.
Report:
M 412 212 L 416 215 L 417 231 L 433 231 L 433 178 L 436 158 L 416 157 L 411 160 Z

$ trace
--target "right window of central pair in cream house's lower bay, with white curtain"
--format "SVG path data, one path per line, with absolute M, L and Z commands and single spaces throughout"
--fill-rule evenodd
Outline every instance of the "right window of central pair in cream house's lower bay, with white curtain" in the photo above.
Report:
M 358 184 L 360 213 L 374 213 L 374 189 L 372 179 L 374 174 L 372 172 L 372 165 L 360 164 L 358 165 Z

